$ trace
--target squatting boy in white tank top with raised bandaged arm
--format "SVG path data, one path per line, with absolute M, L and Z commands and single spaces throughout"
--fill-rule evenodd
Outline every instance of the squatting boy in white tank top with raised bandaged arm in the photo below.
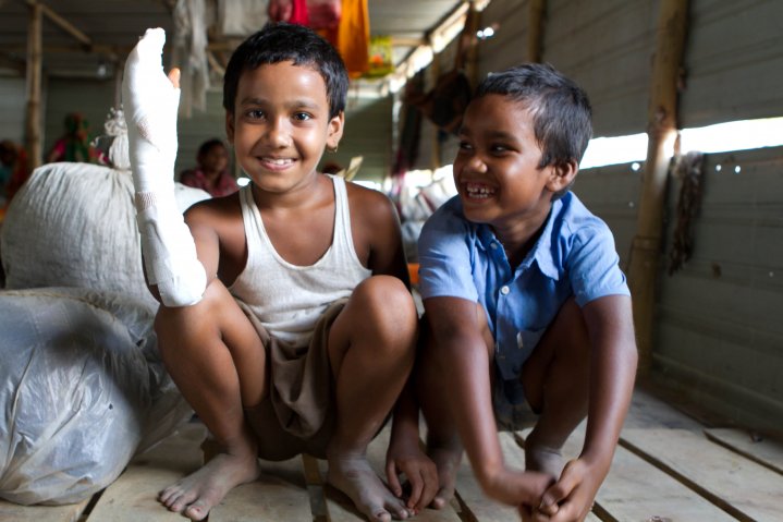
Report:
M 225 129 L 252 183 L 194 205 L 183 223 L 169 202 L 179 89 L 162 72 L 162 29 L 147 32 L 123 85 L 138 226 L 163 361 L 219 452 L 160 501 L 201 520 L 258 476 L 258 456 L 309 452 L 370 520 L 415 514 L 437 489 L 415 409 L 395 410 L 389 487 L 365 458 L 415 360 L 397 216 L 383 194 L 316 170 L 343 133 L 342 60 L 310 29 L 285 24 L 234 51 Z

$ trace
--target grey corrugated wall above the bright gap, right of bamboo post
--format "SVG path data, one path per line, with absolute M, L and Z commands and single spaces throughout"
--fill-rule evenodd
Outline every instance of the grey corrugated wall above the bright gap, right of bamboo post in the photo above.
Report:
M 690 5 L 682 126 L 783 116 L 783 2 Z

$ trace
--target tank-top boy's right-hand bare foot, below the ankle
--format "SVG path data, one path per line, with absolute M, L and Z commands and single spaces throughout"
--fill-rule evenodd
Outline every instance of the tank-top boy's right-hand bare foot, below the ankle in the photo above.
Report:
M 404 502 L 381 482 L 364 456 L 329 458 L 327 481 L 351 497 L 356 509 L 374 522 L 409 517 Z

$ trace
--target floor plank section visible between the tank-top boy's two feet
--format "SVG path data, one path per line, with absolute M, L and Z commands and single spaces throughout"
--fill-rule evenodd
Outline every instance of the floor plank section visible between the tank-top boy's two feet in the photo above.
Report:
M 209 513 L 209 522 L 259 520 L 313 520 L 298 457 L 284 462 L 261 461 L 261 476 L 229 491 L 223 501 Z

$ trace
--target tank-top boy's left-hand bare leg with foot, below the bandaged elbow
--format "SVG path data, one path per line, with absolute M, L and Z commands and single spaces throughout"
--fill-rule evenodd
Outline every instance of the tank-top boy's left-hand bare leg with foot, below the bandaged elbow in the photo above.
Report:
M 266 393 L 266 354 L 255 328 L 217 279 L 194 306 L 161 306 L 156 331 L 166 367 L 219 448 L 204 468 L 163 489 L 158 499 L 171 511 L 203 520 L 229 490 L 258 476 L 257 442 L 243 404 L 255 405 Z

